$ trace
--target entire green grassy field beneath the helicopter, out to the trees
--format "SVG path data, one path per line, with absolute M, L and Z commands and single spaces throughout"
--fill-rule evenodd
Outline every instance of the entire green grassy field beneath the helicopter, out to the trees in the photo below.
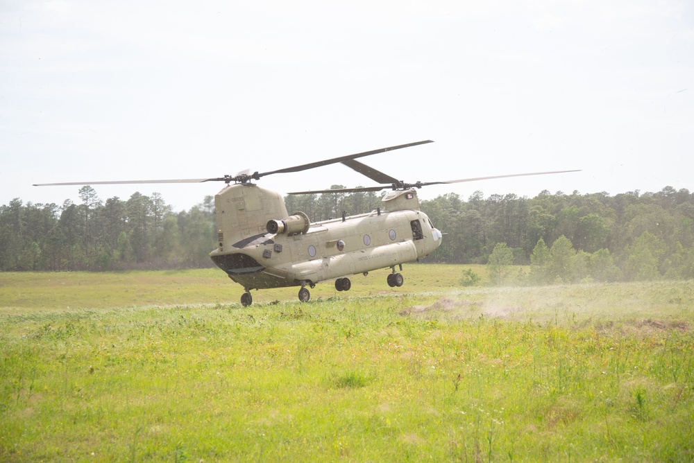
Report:
M 248 308 L 213 270 L 0 273 L 0 460 L 694 460 L 694 281 L 467 268 Z

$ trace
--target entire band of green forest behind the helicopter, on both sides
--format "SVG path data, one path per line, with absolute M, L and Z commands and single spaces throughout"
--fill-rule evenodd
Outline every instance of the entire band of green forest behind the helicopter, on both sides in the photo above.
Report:
M 333 189 L 341 188 L 334 185 Z M 0 270 L 125 270 L 209 267 L 216 247 L 214 198 L 172 211 L 158 193 L 101 200 L 91 186 L 80 204 L 0 207 Z M 375 193 L 289 195 L 289 213 L 316 220 L 357 214 L 380 205 Z M 666 187 L 535 198 L 477 191 L 421 201 L 446 235 L 428 261 L 486 263 L 495 281 L 517 280 L 512 264 L 530 265 L 522 279 L 620 281 L 694 278 L 694 194 Z

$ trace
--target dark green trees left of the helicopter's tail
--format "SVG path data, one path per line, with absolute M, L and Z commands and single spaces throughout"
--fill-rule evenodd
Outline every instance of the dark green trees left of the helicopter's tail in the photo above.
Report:
M 126 270 L 210 267 L 214 198 L 174 213 L 162 195 L 102 201 L 91 186 L 80 204 L 0 207 L 0 270 Z

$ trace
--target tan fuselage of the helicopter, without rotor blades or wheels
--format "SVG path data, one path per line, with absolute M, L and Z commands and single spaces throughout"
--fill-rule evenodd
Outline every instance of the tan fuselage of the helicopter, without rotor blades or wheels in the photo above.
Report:
M 215 196 L 219 247 L 210 257 L 246 290 L 319 281 L 416 261 L 441 244 L 414 190 L 392 191 L 382 207 L 310 223 L 289 216 L 281 195 L 232 184 Z

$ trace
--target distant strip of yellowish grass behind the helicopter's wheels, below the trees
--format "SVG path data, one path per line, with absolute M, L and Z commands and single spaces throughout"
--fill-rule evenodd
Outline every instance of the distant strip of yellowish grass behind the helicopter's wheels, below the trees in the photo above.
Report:
M 462 270 L 446 265 L 405 265 L 405 286 L 389 288 L 390 270 L 351 277 L 353 295 L 405 293 L 410 291 L 448 290 L 457 286 Z M 486 275 L 484 266 L 468 265 Z M 253 291 L 254 302 L 298 299 L 299 287 Z M 311 299 L 335 297 L 332 281 L 319 283 Z M 120 308 L 139 306 L 176 306 L 189 304 L 238 303 L 243 288 L 219 269 L 129 271 L 129 272 L 0 272 L 0 313 L 72 310 L 75 308 Z

